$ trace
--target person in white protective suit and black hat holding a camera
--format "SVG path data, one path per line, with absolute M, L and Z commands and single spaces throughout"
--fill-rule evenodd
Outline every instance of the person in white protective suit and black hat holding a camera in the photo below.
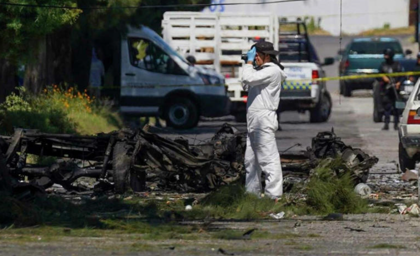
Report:
M 276 59 L 278 54 L 272 43 L 258 42 L 247 52 L 247 63 L 242 71 L 242 86 L 248 92 L 245 188 L 246 192 L 260 196 L 261 172 L 264 172 L 264 194 L 273 199 L 283 194 L 283 174 L 275 132 L 279 125 L 276 110 L 281 84 L 287 76 Z

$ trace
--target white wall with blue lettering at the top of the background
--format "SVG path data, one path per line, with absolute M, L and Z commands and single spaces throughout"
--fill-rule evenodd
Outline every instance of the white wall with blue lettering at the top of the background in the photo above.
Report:
M 272 0 L 212 0 L 216 3 L 264 2 Z M 343 0 L 343 32 L 356 34 L 380 28 L 389 23 L 391 28 L 407 27 L 410 0 Z M 306 0 L 259 5 L 212 6 L 203 11 L 236 13 L 272 12 L 295 20 L 297 17 L 321 18 L 321 27 L 332 35 L 340 34 L 340 0 Z

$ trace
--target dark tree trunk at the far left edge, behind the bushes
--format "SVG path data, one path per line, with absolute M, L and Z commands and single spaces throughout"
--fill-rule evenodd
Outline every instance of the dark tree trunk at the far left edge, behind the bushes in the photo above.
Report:
M 4 102 L 17 86 L 16 69 L 10 61 L 0 58 L 0 103 Z

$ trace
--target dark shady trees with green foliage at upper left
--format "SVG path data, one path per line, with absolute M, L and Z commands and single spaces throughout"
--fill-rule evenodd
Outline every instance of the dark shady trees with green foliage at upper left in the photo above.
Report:
M 150 9 L 89 7 L 191 4 L 208 3 L 210 0 L 8 0 L 7 2 L 81 8 L 0 5 L 0 70 L 2 73 L 10 73 L 18 64 L 25 64 L 25 87 L 37 93 L 46 85 L 61 82 L 70 82 L 79 88 L 85 88 L 89 80 L 93 47 L 100 48 L 104 53 L 103 60 L 107 69 L 118 71 L 119 63 L 116 61 L 119 55 L 119 40 L 127 24 L 144 24 L 160 33 L 165 11 L 200 10 L 198 7 Z M 7 64 L 7 68 L 1 63 Z M 118 81 L 118 74 L 114 75 L 114 81 Z M 0 83 L 4 85 L 6 82 L 0 79 Z M 10 84 L 7 87 L 13 88 L 15 82 Z M 0 100 L 4 99 L 1 94 L 3 93 L 0 93 Z

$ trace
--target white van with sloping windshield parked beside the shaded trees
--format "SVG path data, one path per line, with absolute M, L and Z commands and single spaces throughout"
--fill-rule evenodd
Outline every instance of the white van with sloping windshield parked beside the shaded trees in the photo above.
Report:
M 124 115 L 159 115 L 167 125 L 187 129 L 200 115 L 229 114 L 224 77 L 193 66 L 148 27 L 128 27 L 122 37 L 120 74 Z

